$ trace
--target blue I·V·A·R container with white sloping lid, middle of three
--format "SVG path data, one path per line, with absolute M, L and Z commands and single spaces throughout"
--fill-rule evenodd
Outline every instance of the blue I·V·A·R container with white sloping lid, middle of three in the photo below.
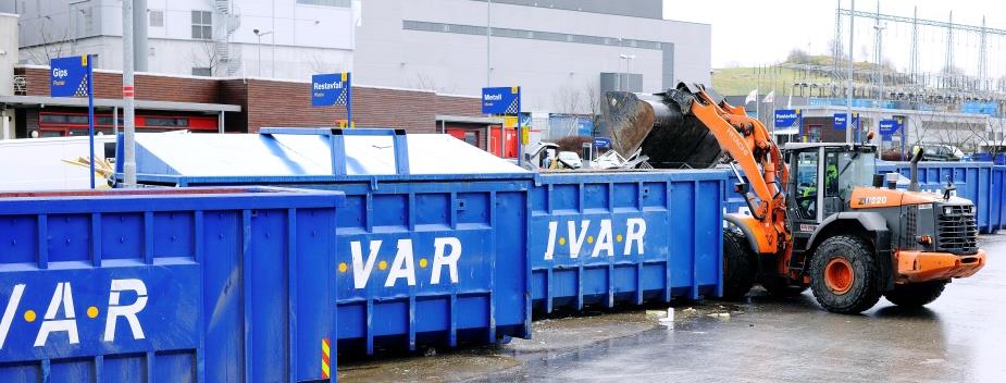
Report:
M 331 269 L 341 351 L 530 335 L 532 173 L 447 135 L 262 132 L 137 135 L 138 178 L 345 192 Z

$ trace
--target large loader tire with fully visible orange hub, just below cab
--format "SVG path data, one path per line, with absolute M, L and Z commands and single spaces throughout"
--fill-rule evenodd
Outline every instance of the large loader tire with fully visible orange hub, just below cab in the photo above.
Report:
M 856 236 L 840 235 L 818 247 L 810 261 L 810 288 L 818 304 L 837 313 L 860 313 L 883 289 L 873 248 Z

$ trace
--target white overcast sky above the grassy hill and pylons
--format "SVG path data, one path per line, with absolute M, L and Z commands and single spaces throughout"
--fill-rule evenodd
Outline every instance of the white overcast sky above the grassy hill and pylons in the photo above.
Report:
M 771 0 L 771 1 L 696 1 L 663 0 L 663 17 L 712 25 L 712 65 L 771 64 L 785 59 L 790 50 L 800 48 L 810 53 L 831 51 L 830 41 L 835 35 L 834 0 Z M 849 0 L 842 0 L 848 8 Z M 919 18 L 947 21 L 954 12 L 955 24 L 981 25 L 1006 29 L 1006 1 L 1003 0 L 884 0 L 881 13 L 911 17 L 918 7 Z M 877 1 L 856 1 L 856 10 L 877 11 Z M 848 16 L 842 21 L 843 46 L 848 46 Z M 873 60 L 872 18 L 856 18 L 854 54 L 856 60 Z M 887 23 L 883 32 L 884 59 L 896 67 L 908 66 L 911 25 Z M 955 64 L 968 73 L 977 73 L 977 33 L 958 33 L 954 37 Z M 946 29 L 920 28 L 920 61 L 923 71 L 939 71 L 946 51 Z M 988 38 L 988 66 L 991 76 L 1006 75 L 1006 37 Z

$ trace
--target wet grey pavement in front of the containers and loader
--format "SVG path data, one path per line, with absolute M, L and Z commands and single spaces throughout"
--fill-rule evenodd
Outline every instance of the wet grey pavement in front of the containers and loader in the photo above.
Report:
M 881 301 L 860 316 L 791 299 L 536 321 L 508 345 L 339 366 L 341 382 L 1006 382 L 1006 235 L 990 262 L 926 308 Z

